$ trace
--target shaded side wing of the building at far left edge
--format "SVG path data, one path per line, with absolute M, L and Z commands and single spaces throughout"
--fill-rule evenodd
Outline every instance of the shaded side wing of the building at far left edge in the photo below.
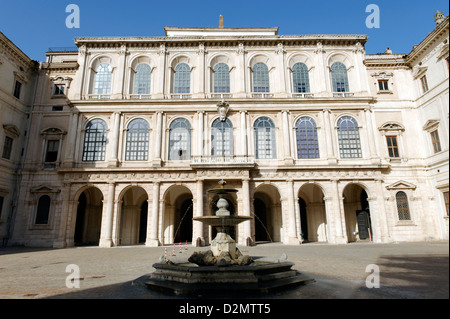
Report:
M 16 212 L 38 67 L 0 32 L 0 246 Z

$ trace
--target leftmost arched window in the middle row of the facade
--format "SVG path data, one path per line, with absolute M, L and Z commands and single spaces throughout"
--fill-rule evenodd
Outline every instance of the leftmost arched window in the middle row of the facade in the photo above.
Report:
M 106 152 L 105 121 L 95 119 L 86 125 L 83 146 L 83 162 L 104 161 Z

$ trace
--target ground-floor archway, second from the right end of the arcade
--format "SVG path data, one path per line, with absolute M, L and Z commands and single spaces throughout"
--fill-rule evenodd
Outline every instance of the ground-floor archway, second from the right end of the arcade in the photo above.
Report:
M 306 184 L 300 188 L 298 197 L 303 240 L 327 242 L 327 218 L 322 189 L 315 184 Z

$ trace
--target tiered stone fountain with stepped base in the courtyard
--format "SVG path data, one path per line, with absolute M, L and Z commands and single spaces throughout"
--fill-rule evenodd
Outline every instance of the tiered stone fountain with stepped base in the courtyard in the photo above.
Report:
M 161 257 L 153 265 L 155 271 L 146 282 L 148 288 L 176 295 L 219 293 L 268 293 L 272 290 L 295 285 L 305 285 L 314 279 L 291 269 L 294 263 L 287 261 L 286 254 L 280 258 L 253 258 L 243 255 L 230 236 L 230 229 L 249 221 L 249 216 L 233 216 L 225 198 L 237 190 L 211 189 L 210 194 L 219 196 L 215 215 L 195 217 L 193 220 L 213 226 L 217 230 L 211 249 L 194 252 L 190 256 Z

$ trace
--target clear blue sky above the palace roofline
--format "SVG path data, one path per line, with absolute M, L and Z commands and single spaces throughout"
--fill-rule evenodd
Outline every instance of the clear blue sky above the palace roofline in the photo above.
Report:
M 66 6 L 80 8 L 80 28 L 68 29 Z M 380 8 L 380 28 L 366 27 L 366 6 Z M 0 0 L 0 31 L 30 58 L 75 37 L 164 36 L 164 26 L 279 27 L 279 34 L 366 34 L 367 53 L 409 53 L 449 13 L 448 0 Z

